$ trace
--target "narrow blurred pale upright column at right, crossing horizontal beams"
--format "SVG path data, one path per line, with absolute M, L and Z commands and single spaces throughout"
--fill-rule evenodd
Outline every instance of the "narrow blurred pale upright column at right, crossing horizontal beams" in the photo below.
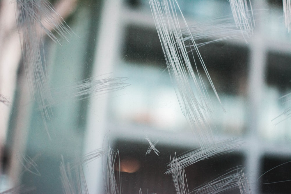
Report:
M 266 2 L 252 1 L 253 9 L 266 8 Z M 250 42 L 249 76 L 248 76 L 248 120 L 246 131 L 246 174 L 252 193 L 259 193 L 258 177 L 261 166 L 261 146 L 258 134 L 261 101 L 265 82 L 267 48 L 263 37 L 262 15 L 255 15 L 256 26 Z

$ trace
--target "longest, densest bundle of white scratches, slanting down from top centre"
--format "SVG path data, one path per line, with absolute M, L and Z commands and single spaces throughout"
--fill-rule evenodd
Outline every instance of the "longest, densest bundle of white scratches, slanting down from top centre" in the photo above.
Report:
M 149 2 L 182 112 L 189 120 L 200 140 L 200 145 L 203 147 L 205 144 L 214 141 L 208 123 L 212 118 L 213 108 L 203 76 L 207 78 L 220 102 L 219 96 L 177 1 L 149 0 Z M 178 15 L 183 21 L 181 25 Z M 184 29 L 189 34 L 188 45 L 194 47 L 189 54 L 183 41 L 182 26 L 185 26 Z M 190 56 L 193 58 L 193 65 L 190 62 Z M 196 56 L 196 59 L 194 56 Z M 198 70 L 198 66 L 203 68 L 204 71 L 202 72 L 204 73 Z

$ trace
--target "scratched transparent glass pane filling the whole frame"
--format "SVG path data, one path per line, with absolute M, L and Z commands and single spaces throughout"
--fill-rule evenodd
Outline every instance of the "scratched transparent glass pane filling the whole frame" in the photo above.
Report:
M 51 1 L 55 7 L 57 2 L 74 1 Z M 28 193 L 86 193 L 80 190 L 85 188 L 82 181 L 86 180 L 88 193 L 106 193 L 106 189 L 114 193 L 113 188 L 118 190 L 115 193 L 178 193 L 173 177 L 166 173 L 167 165 L 175 156 L 207 148 L 200 147 L 197 129 L 183 115 L 183 102 L 178 101 L 179 91 L 169 74 L 149 1 L 75 2 L 65 9 L 69 14 L 60 12 L 72 30 L 69 41 L 54 30 L 61 44 L 43 35 L 40 57 L 53 99 L 52 106 L 48 105 L 50 118 L 42 116 L 43 107 L 33 99 L 25 57 L 19 56 L 16 62 L 11 73 L 15 78 L 7 78 L 10 73 L 5 72 L 6 63 L 0 58 L 0 82 L 9 79 L 6 81 L 15 87 L 9 86 L 12 92 L 8 94 L 2 89 L 8 85 L 0 84 L 0 115 L 6 116 L 0 121 L 4 126 L 0 192 L 22 185 L 19 189 L 31 189 Z M 289 193 L 291 43 L 284 26 L 282 1 L 251 1 L 256 24 L 249 39 L 236 28 L 229 1 L 177 2 L 197 38 L 221 100 L 220 104 L 205 73 L 194 76 L 205 81 L 213 107 L 211 117 L 205 119 L 207 129 L 213 133 L 211 140 L 217 143 L 212 151 L 238 138 L 232 152 L 183 168 L 181 176 L 187 177 L 187 189 L 202 192 L 197 188 L 206 182 L 217 178 L 221 181 L 221 175 L 244 168 L 252 193 Z M 0 6 L 0 24 L 6 26 L 2 18 L 10 16 L 1 13 L 5 12 Z M 178 19 L 185 32 L 182 18 Z M 19 41 L 17 33 L 22 31 L 15 32 L 16 23 L 11 25 L 14 28 L 9 32 Z M 13 37 L 4 32 L 0 35 L 7 42 Z M 187 35 L 183 38 L 190 55 L 193 46 L 187 45 Z M 5 44 L 0 42 L 3 53 L 9 50 Z M 21 47 L 11 47 L 15 48 L 8 60 L 12 63 Z M 195 53 L 189 60 L 192 68 L 204 72 L 202 66 L 196 69 L 194 60 L 199 60 Z M 88 80 L 90 77 L 93 79 Z M 99 81 L 89 85 L 93 80 Z M 93 90 L 95 86 L 100 87 Z M 198 95 L 193 80 L 189 86 Z M 1 122 L 7 122 L 7 127 Z M 156 149 L 152 147 L 148 153 L 151 145 Z M 64 171 L 71 173 L 67 188 Z M 239 187 L 224 193 L 240 193 Z

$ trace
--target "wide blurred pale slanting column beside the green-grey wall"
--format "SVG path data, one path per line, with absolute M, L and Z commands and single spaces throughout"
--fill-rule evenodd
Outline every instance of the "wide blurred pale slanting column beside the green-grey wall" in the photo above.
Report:
M 103 1 L 92 76 L 113 71 L 119 54 L 122 6 L 123 1 Z M 108 77 L 108 75 L 105 76 Z M 89 104 L 84 154 L 102 147 L 106 135 L 108 95 L 102 95 L 98 99 L 92 98 Z M 84 173 L 89 193 L 104 193 L 102 160 L 96 159 L 88 163 L 84 168 Z M 106 174 L 106 172 L 104 173 Z

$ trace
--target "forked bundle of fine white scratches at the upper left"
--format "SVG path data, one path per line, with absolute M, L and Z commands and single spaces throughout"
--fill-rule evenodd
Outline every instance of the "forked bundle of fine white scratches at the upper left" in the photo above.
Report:
M 45 122 L 45 119 L 50 119 L 52 116 L 52 110 L 47 106 L 52 104 L 52 95 L 49 90 L 43 34 L 47 34 L 54 42 L 60 43 L 51 30 L 66 40 L 72 30 L 47 0 L 15 0 L 15 2 L 26 77 L 31 94 L 38 103 Z M 45 128 L 49 135 L 46 123 Z

